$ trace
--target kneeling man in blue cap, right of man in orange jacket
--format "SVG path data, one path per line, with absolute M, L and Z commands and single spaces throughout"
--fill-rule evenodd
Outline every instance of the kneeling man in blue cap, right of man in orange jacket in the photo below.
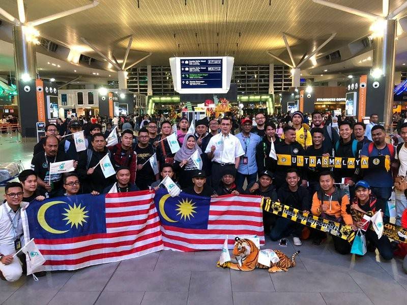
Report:
M 371 215 L 375 214 L 375 212 L 379 211 L 379 209 L 385 210 L 387 202 L 376 198 L 372 191 L 370 190 L 370 186 L 367 181 L 360 180 L 355 185 L 355 198 L 352 201 L 351 208 L 357 211 L 362 212 L 363 214 L 367 214 L 371 212 Z M 383 212 L 382 217 L 383 217 Z M 365 221 L 362 219 L 356 223 L 356 226 L 359 229 L 364 227 Z M 362 230 L 363 232 L 363 230 Z M 385 260 L 391 260 L 393 258 L 393 249 L 390 243 L 390 240 L 387 236 L 382 235 L 379 239 L 377 238 L 376 232 L 368 229 L 364 232 L 366 237 L 366 242 L 368 243 L 367 248 L 374 251 L 376 248 L 379 250 L 380 255 Z

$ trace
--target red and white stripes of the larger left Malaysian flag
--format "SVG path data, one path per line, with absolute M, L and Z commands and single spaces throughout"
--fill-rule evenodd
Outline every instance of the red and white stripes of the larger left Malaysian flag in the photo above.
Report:
M 43 269 L 75 270 L 162 250 L 160 219 L 153 197 L 150 191 L 106 194 L 106 233 L 61 239 L 35 238 L 46 259 Z M 25 212 L 22 221 L 27 242 L 30 231 Z

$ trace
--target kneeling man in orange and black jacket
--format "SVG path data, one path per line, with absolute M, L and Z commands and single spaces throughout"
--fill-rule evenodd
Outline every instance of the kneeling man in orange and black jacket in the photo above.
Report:
M 335 179 L 331 171 L 324 171 L 319 175 L 319 185 L 321 190 L 315 192 L 312 197 L 311 212 L 313 215 L 352 226 L 352 216 L 346 210 L 349 202 L 349 197 L 334 185 Z M 326 238 L 326 233 L 315 231 L 314 245 L 321 245 L 323 239 Z M 351 244 L 338 236 L 332 235 L 335 250 L 340 254 L 349 254 L 351 252 Z

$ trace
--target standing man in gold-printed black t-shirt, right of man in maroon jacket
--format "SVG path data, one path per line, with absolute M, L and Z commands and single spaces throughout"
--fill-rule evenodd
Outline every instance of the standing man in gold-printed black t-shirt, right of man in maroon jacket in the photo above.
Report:
M 138 144 L 134 151 L 137 154 L 136 186 L 142 191 L 148 190 L 149 186 L 159 179 L 159 173 L 155 175 L 150 162 L 148 162 L 154 155 L 154 149 L 149 144 L 149 140 L 149 132 L 146 128 L 141 128 L 138 132 Z

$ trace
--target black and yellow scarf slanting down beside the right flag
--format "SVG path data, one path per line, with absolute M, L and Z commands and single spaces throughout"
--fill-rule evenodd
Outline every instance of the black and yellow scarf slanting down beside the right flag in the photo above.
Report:
M 346 239 L 349 242 L 355 238 L 355 232 L 352 230 L 351 226 L 319 218 L 310 213 L 305 214 L 294 207 L 283 205 L 270 199 L 263 199 L 261 201 L 261 206 L 267 212 L 298 222 L 302 225 L 330 233 L 342 239 Z

